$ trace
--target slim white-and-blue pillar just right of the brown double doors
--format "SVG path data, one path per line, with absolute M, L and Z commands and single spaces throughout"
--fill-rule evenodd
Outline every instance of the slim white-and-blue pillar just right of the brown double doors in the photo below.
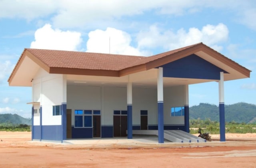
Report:
M 127 84 L 127 138 L 132 139 L 132 83 Z

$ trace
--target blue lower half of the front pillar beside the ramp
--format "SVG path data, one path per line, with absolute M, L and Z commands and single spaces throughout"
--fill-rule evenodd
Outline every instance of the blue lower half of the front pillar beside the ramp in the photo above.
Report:
M 158 143 L 164 143 L 164 102 L 158 102 Z

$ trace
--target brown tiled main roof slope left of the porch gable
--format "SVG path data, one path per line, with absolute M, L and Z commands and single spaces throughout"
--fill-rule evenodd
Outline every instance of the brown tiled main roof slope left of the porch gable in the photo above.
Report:
M 118 71 L 144 57 L 77 51 L 25 49 L 48 67 Z

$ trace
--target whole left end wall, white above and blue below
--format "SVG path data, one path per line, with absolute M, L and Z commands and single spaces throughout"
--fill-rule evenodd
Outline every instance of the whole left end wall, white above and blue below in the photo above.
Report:
M 33 139 L 62 140 L 62 115 L 53 114 L 53 106 L 61 105 L 65 99 L 64 75 L 49 74 L 40 69 L 33 79 L 32 101 L 38 112 L 34 114 Z

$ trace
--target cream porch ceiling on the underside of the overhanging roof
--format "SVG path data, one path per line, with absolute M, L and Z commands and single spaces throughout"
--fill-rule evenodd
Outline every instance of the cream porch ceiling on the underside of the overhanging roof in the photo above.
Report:
M 164 87 L 190 85 L 210 81 L 216 80 L 164 77 Z M 133 87 L 156 87 L 157 69 L 150 69 L 123 77 L 67 75 L 67 85 L 126 87 L 128 82 L 132 82 Z

